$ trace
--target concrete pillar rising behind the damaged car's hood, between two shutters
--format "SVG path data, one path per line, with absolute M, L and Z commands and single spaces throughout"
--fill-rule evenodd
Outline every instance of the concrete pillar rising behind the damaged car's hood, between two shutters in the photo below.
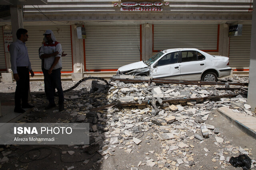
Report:
M 146 61 L 152 57 L 152 45 L 153 45 L 153 33 L 152 24 L 144 23 L 142 24 L 142 60 Z

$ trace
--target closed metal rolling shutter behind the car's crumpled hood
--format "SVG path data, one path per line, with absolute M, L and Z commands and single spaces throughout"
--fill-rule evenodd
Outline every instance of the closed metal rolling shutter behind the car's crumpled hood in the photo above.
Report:
M 140 25 L 86 25 L 86 70 L 118 69 L 140 61 Z

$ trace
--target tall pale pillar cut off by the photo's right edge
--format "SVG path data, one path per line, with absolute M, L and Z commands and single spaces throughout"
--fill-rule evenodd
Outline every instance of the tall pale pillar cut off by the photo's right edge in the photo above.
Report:
M 250 71 L 249 71 L 249 87 L 248 87 L 248 104 L 255 110 L 256 107 L 256 1 L 253 1 L 252 13 L 252 37 L 250 51 Z

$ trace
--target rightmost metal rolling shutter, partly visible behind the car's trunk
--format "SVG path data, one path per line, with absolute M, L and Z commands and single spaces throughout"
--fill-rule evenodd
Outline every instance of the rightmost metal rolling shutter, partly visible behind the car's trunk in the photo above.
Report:
M 242 36 L 230 37 L 229 65 L 232 68 L 249 68 L 252 25 L 243 25 Z

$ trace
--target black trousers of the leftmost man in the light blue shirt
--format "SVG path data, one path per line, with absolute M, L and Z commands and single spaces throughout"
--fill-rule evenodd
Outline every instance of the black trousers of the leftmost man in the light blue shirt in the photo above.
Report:
M 21 108 L 22 105 L 28 104 L 28 90 L 29 90 L 29 70 L 28 67 L 17 67 L 17 73 L 19 75 L 19 80 L 16 82 L 15 91 L 15 107 Z

